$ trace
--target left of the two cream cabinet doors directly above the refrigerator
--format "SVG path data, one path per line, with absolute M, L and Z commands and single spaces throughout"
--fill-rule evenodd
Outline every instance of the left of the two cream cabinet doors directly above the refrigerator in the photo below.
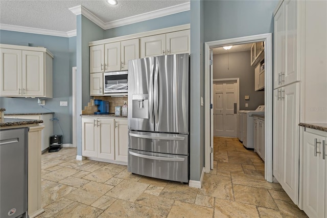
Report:
M 141 58 L 166 55 L 166 34 L 141 38 Z

